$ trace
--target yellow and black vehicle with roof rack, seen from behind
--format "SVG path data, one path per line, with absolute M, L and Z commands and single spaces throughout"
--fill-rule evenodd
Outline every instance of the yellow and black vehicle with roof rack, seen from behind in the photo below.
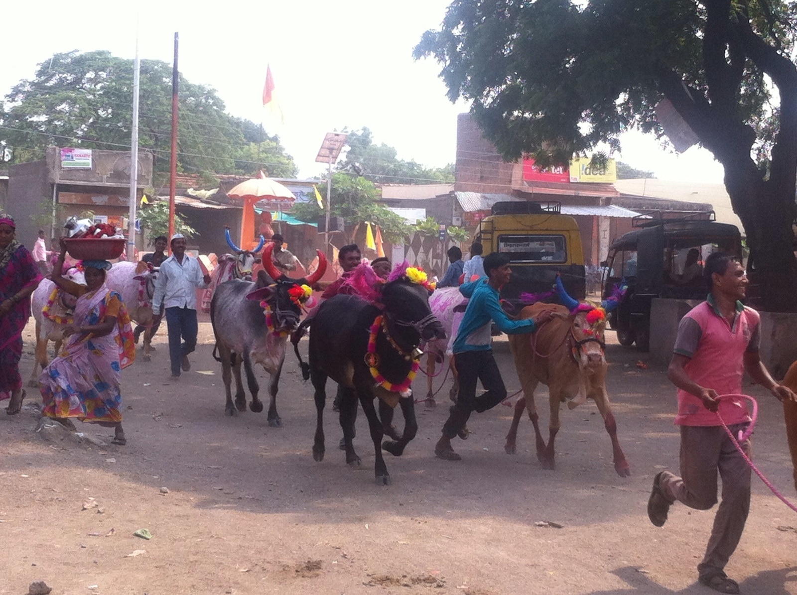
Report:
M 520 311 L 525 305 L 520 294 L 551 291 L 557 272 L 567 293 L 584 299 L 579 226 L 573 217 L 561 214 L 559 202 L 497 202 L 491 212 L 480 222 L 476 241 L 484 247 L 484 256 L 503 252 L 512 259 L 512 280 L 501 289 L 501 299 Z

